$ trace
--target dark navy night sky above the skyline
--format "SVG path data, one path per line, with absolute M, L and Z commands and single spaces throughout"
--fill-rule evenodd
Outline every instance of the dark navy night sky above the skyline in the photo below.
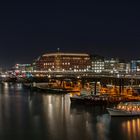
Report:
M 133 1 L 0 2 L 0 65 L 31 63 L 58 47 L 63 52 L 140 58 L 139 7 Z

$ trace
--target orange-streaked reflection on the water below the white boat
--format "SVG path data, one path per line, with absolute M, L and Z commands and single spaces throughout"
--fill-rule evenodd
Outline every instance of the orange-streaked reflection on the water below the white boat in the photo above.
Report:
M 140 118 L 139 117 L 113 117 L 110 122 L 111 137 L 118 134 L 121 139 L 140 139 Z M 113 130 L 115 128 L 115 131 Z M 117 139 L 117 138 L 116 138 Z

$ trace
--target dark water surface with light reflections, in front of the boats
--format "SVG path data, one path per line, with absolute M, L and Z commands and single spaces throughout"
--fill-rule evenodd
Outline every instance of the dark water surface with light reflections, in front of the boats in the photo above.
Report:
M 69 95 L 0 87 L 0 139 L 135 140 L 139 118 L 111 118 L 106 107 L 70 103 Z

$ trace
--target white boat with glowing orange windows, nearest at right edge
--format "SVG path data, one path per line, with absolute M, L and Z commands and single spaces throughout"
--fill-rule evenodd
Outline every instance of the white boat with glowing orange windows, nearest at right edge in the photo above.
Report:
M 140 116 L 140 102 L 121 102 L 107 111 L 110 116 Z

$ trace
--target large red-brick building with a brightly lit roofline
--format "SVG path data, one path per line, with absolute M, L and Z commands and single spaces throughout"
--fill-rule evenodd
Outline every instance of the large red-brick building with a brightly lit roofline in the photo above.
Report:
M 46 53 L 34 63 L 41 71 L 89 71 L 91 61 L 86 53 Z

